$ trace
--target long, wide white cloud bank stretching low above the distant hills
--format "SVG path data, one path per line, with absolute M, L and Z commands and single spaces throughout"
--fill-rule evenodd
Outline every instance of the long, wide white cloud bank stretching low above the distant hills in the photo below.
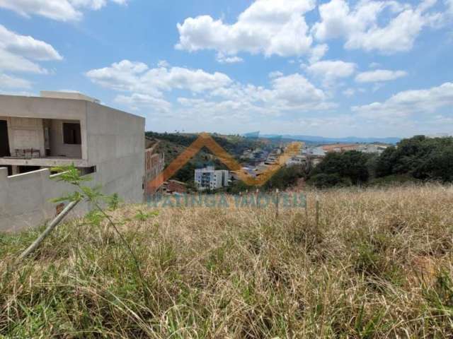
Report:
M 294 73 L 272 74 L 268 86 L 256 86 L 232 81 L 224 73 L 159 67 L 123 60 L 103 69 L 93 69 L 86 76 L 94 83 L 120 93 L 115 102 L 130 109 L 145 107 L 164 113 L 166 117 L 201 119 L 244 119 L 299 114 L 336 107 L 323 90 L 316 88 L 304 76 Z M 190 97 L 178 90 L 189 92 Z M 178 95 L 177 102 L 169 99 Z

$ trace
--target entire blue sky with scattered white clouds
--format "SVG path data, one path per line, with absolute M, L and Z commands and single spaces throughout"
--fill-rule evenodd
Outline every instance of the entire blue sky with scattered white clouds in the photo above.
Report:
M 0 0 L 1 94 L 149 131 L 452 134 L 452 65 L 453 0 Z

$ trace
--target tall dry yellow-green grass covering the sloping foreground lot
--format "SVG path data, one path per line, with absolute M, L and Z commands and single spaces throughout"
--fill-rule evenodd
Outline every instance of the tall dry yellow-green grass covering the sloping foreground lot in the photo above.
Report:
M 321 200 L 315 225 L 314 196 Z M 453 187 L 309 192 L 305 210 L 164 208 L 0 236 L 0 337 L 450 338 Z M 139 212 L 140 211 L 140 212 Z M 77 245 L 78 244 L 78 245 Z

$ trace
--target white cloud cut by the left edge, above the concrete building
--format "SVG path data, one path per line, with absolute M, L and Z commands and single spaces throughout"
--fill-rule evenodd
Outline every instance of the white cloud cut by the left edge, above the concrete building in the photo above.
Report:
M 35 61 L 62 60 L 50 44 L 33 37 L 18 35 L 0 25 L 0 69 L 10 72 L 47 73 Z

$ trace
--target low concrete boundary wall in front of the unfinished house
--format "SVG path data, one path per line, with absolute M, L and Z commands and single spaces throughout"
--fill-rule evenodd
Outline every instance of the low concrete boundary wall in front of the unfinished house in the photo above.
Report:
M 97 174 L 91 175 L 93 183 L 96 182 Z M 8 177 L 6 168 L 0 168 L 0 231 L 16 232 L 54 218 L 58 204 L 50 199 L 74 191 L 73 186 L 57 179 L 58 174 L 51 176 L 49 169 Z M 88 205 L 80 203 L 71 216 L 81 216 L 87 211 Z

